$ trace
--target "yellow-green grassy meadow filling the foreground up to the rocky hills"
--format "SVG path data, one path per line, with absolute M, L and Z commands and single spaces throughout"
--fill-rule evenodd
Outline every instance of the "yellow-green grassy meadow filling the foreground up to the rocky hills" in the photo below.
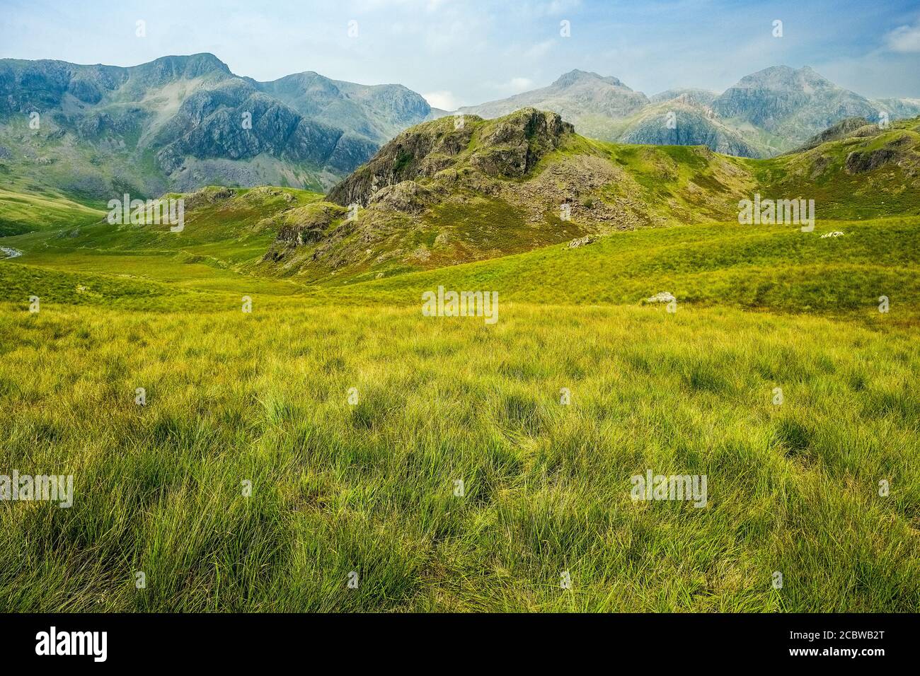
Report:
M 920 607 L 920 217 L 306 285 L 258 213 L 84 209 L 0 238 L 0 474 L 74 476 L 0 503 L 6 611 Z M 439 285 L 498 323 L 421 315 Z M 634 501 L 647 470 L 706 507 Z

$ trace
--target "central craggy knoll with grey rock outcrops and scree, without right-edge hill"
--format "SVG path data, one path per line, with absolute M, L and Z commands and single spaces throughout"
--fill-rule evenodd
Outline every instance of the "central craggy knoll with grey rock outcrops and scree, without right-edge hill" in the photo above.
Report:
M 751 186 L 741 160 L 590 141 L 551 112 L 467 115 L 459 128 L 434 120 L 306 207 L 266 263 L 309 280 L 389 276 L 644 225 L 727 220 Z

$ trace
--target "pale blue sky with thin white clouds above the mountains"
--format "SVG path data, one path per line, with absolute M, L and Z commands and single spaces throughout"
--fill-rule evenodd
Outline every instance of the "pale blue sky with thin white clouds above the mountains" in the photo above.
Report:
M 866 96 L 920 97 L 920 2 L 0 0 L 0 57 L 132 65 L 194 52 L 258 80 L 312 70 L 400 83 L 450 109 L 572 68 L 654 94 L 811 65 Z

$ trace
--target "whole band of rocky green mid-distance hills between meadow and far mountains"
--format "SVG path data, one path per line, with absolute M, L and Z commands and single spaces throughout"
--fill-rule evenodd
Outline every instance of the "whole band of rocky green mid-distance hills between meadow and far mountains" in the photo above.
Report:
M 0 191 L 0 234 L 3 213 L 18 203 L 22 225 L 7 228 L 13 236 L 4 244 L 33 259 L 49 247 L 171 253 L 263 279 L 340 286 L 509 256 L 512 265 L 535 249 L 555 257 L 604 246 L 620 231 L 663 227 L 670 235 L 662 237 L 680 241 L 695 225 L 737 223 L 740 202 L 757 194 L 813 200 L 814 237 L 828 223 L 920 214 L 920 118 L 887 129 L 851 118 L 768 159 L 597 141 L 537 109 L 491 120 L 469 115 L 462 124 L 442 118 L 398 133 L 325 196 L 206 187 L 184 195 L 177 234 L 166 223 L 111 224 L 103 210 L 75 212 L 73 204 Z M 55 217 L 55 209 L 69 215 Z M 29 233 L 36 224 L 42 229 Z M 710 253 L 699 255 L 696 264 L 705 266 Z M 666 259 L 657 265 L 670 269 Z

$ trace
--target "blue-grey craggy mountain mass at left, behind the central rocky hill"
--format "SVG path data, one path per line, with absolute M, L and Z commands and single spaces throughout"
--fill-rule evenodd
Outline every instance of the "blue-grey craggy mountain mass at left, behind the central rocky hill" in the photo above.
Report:
M 259 83 L 213 54 L 128 68 L 5 59 L 0 171 L 11 187 L 106 200 L 209 183 L 320 189 L 430 114 L 402 86 L 313 73 Z

